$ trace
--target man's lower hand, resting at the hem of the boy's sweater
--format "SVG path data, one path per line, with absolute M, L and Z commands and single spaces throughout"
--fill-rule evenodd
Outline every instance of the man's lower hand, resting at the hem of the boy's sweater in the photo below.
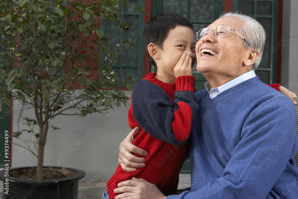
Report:
M 118 188 L 114 189 L 117 195 L 115 199 L 135 198 L 135 199 L 164 199 L 167 198 L 159 191 L 155 184 L 149 183 L 142 178 L 132 178 L 118 183 Z

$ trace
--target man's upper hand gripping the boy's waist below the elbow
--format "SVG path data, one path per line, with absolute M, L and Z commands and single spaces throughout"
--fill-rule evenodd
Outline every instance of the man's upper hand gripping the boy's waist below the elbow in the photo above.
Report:
M 136 153 L 142 156 L 147 156 L 148 152 L 132 144 L 136 135 L 140 131 L 139 127 L 132 129 L 132 131 L 127 135 L 127 137 L 120 143 L 119 146 L 119 158 L 122 169 L 126 172 L 135 172 L 136 168 L 145 167 L 145 158 L 140 158 L 132 154 Z

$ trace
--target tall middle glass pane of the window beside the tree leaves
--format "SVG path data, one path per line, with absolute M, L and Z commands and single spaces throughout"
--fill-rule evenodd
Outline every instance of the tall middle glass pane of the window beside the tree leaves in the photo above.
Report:
M 128 21 L 131 18 L 131 16 L 124 16 L 124 19 L 126 21 Z M 139 28 L 139 16 L 134 16 L 134 18 L 132 18 L 130 21 L 130 23 L 132 23 L 132 28 L 133 30 L 128 30 L 128 31 L 124 31 L 123 35 L 124 35 L 124 40 L 126 39 L 130 39 L 132 41 L 133 44 L 135 44 L 133 47 L 122 47 L 123 48 L 123 56 L 122 56 L 122 60 L 123 60 L 123 65 L 129 65 L 129 66 L 134 66 L 134 65 L 138 65 L 138 28 Z

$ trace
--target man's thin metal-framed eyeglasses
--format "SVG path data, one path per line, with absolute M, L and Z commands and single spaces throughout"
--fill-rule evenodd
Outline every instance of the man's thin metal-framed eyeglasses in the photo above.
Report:
M 195 33 L 197 35 L 197 40 L 199 40 L 199 41 L 202 40 L 203 37 L 205 35 L 208 35 L 209 33 L 211 33 L 212 30 L 215 30 L 214 33 L 217 38 L 225 38 L 225 37 L 229 36 L 231 30 L 234 30 L 238 35 L 240 35 L 234 28 L 231 28 L 231 26 L 222 25 L 222 26 L 218 26 L 215 29 L 203 28 L 203 29 L 199 30 L 197 33 Z M 246 41 L 243 36 L 240 35 L 240 37 L 242 37 L 244 39 L 244 41 Z

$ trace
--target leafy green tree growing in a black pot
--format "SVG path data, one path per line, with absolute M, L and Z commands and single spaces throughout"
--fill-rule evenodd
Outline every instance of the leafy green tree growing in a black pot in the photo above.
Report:
M 52 127 L 50 121 L 57 115 L 69 115 L 66 113 L 69 109 L 77 110 L 71 115 L 86 116 L 111 112 L 121 103 L 126 104 L 128 98 L 119 89 L 111 70 L 119 52 L 110 49 L 111 45 L 133 44 L 130 39 L 117 44 L 109 42 L 119 31 L 131 30 L 129 20 L 119 15 L 124 6 L 128 6 L 127 0 L 88 1 L 85 4 L 69 0 L 1 2 L 0 110 L 4 103 L 10 105 L 11 97 L 26 109 L 34 109 L 35 118 L 23 117 L 29 129 L 14 132 L 12 136 L 24 141 L 26 144 L 22 147 L 38 159 L 37 166 L 30 168 L 30 171 L 36 170 L 36 175 L 31 177 L 33 180 L 12 178 L 13 169 L 10 169 L 10 195 L 4 194 L 4 198 L 22 198 L 28 186 L 36 188 L 32 192 L 34 198 L 73 198 L 77 192 L 78 181 L 85 175 L 83 171 L 43 166 L 47 134 L 49 130 L 58 129 Z M 137 10 L 143 12 L 141 7 Z M 111 37 L 105 37 L 100 29 L 108 20 L 117 22 L 117 30 Z M 126 83 L 131 89 L 132 84 Z M 23 109 L 20 119 L 22 113 Z M 35 126 L 39 131 L 34 131 Z M 30 133 L 33 138 L 24 140 L 23 133 Z M 15 172 L 20 170 L 17 168 Z M 44 179 L 44 170 L 61 171 L 67 177 L 61 178 L 66 185 L 57 188 L 58 180 Z M 1 174 L 3 181 L 6 179 L 4 172 Z M 46 194 L 45 190 L 51 194 Z M 58 195 L 59 192 L 63 192 L 62 195 Z

